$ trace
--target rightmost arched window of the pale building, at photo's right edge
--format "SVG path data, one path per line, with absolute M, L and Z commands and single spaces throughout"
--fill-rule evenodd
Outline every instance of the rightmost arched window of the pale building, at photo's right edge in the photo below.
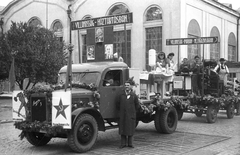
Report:
M 236 37 L 233 33 L 228 36 L 228 61 L 237 61 Z

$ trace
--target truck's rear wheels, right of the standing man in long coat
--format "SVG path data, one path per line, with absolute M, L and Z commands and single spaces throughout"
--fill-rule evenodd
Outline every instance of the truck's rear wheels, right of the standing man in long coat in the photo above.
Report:
M 170 134 L 177 128 L 178 114 L 174 107 L 170 107 L 167 111 L 157 111 L 155 115 L 155 128 L 158 132 Z

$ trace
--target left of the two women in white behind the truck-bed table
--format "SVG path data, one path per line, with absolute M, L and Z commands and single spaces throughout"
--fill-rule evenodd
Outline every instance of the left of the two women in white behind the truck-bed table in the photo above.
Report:
M 164 72 L 168 70 L 170 67 L 170 61 L 166 58 L 166 55 L 164 52 L 160 52 L 157 56 L 157 62 L 156 62 L 156 71 Z

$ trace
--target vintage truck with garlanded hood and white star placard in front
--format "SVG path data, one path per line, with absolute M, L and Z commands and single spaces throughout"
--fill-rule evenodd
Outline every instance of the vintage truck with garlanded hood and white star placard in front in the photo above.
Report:
M 72 150 L 86 152 L 94 146 L 98 131 L 118 127 L 115 99 L 129 79 L 131 69 L 123 62 L 73 64 L 72 86 L 67 90 L 64 89 L 66 73 L 64 66 L 55 87 L 39 86 L 24 92 L 28 99 L 26 119 L 17 121 L 15 127 L 23 131 L 21 136 L 32 145 L 46 145 L 51 138 L 62 137 L 68 139 Z M 106 76 L 111 76 L 110 84 Z M 168 102 L 156 101 L 154 97 L 139 99 L 143 109 L 137 112 L 136 126 L 139 121 L 154 121 L 158 132 L 173 133 L 178 122 L 176 109 Z M 151 110 L 146 108 L 150 104 Z

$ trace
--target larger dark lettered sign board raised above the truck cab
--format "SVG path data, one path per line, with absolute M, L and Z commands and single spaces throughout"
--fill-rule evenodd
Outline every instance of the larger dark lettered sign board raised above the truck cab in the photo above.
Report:
M 132 13 L 90 18 L 71 22 L 72 30 L 132 23 Z

